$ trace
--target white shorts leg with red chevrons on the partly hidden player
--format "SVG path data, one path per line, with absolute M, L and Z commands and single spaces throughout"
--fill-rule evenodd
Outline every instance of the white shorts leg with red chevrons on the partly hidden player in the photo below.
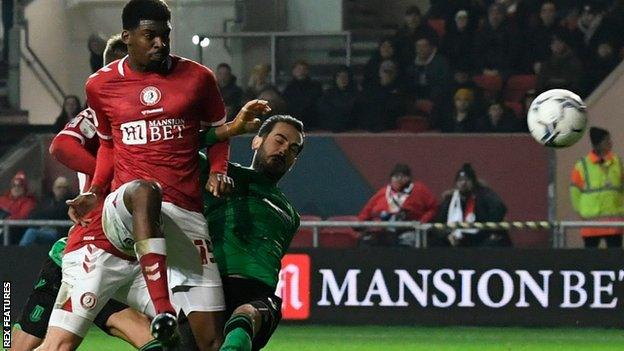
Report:
M 129 284 L 129 275 L 138 271 L 134 266 L 91 244 L 65 254 L 49 325 L 83 338 L 111 296 Z

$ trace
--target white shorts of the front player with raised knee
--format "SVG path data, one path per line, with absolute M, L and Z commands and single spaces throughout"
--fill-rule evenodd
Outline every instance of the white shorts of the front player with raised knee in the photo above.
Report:
M 132 215 L 123 201 L 124 191 L 129 184 L 120 186 L 106 197 L 102 228 L 117 249 L 135 256 Z M 172 302 L 174 305 L 177 302 L 176 307 L 181 307 L 186 313 L 224 311 L 221 276 L 212 254 L 206 219 L 199 212 L 169 202 L 162 203 L 161 216 L 167 245 L 169 287 L 173 291 Z M 210 293 L 199 293 L 199 290 Z

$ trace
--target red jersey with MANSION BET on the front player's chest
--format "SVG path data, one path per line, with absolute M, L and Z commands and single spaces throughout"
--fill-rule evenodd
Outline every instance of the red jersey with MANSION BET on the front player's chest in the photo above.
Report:
M 87 100 L 100 138 L 112 140 L 112 190 L 135 179 L 157 181 L 163 201 L 201 212 L 199 130 L 225 122 L 213 72 L 170 56 L 168 73 L 135 72 L 127 57 L 89 77 Z

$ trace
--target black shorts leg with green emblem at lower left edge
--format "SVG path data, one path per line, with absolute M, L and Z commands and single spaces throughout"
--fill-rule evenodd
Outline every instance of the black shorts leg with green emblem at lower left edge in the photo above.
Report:
M 43 339 L 50 313 L 61 286 L 61 267 L 49 257 L 44 261 L 26 305 L 18 319 L 19 328 L 26 334 Z

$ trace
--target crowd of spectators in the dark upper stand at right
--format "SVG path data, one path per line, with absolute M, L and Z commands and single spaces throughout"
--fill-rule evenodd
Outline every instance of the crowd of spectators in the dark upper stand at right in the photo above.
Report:
M 338 68 L 326 89 L 305 61 L 282 91 L 262 64 L 241 100 L 229 101 L 235 81 L 219 84 L 226 104 L 267 98 L 313 131 L 525 132 L 536 94 L 586 96 L 613 70 L 622 29 L 622 1 L 434 0 L 426 14 L 409 7 L 363 68 Z

